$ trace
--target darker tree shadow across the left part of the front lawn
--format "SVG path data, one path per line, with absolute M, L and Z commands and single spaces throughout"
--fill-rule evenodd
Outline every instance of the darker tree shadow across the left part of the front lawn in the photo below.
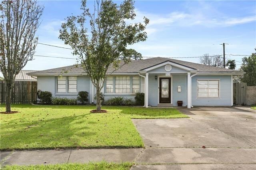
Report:
M 8 121 L 7 124 L 1 125 L 1 150 L 79 147 L 85 142 L 82 140 L 84 136 L 90 138 L 96 134 L 81 121 L 87 115 L 23 123 L 20 119 Z M 77 125 L 74 126 L 74 123 Z M 6 129 L 6 132 L 3 132 L 3 129 Z

